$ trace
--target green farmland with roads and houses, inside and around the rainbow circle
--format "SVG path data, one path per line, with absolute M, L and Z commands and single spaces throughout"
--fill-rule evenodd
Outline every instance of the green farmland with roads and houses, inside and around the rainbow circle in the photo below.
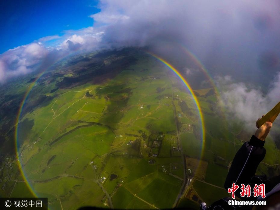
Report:
M 184 178 L 193 179 L 186 189 L 193 188 L 205 202 L 227 196 L 221 188 L 229 161 L 249 139 L 241 139 L 242 127 L 229 124 L 218 110 L 212 87 L 196 90 L 205 122 L 203 142 L 194 97 L 155 58 L 126 49 L 83 56 L 89 61 L 78 62 L 80 57 L 73 55 L 36 81 L 20 115 L 18 159 L 15 119 L 3 117 L 0 196 L 33 196 L 33 191 L 48 197 L 50 209 L 154 209 L 176 204 L 196 209 L 198 202 L 177 202 Z M 35 73 L 2 88 L 13 115 L 18 112 L 14 105 L 21 104 L 17 97 L 24 96 L 34 78 Z M 278 161 L 275 148 L 268 137 L 265 163 Z M 202 158 L 207 166 L 197 173 L 199 178 L 196 166 L 184 176 L 186 157 L 197 163 Z M 258 173 L 272 173 L 265 163 Z

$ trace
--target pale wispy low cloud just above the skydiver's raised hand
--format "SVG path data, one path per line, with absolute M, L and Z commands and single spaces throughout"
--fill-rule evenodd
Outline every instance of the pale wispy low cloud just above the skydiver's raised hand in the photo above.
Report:
M 267 94 L 263 94 L 260 88 L 235 83 L 229 76 L 219 77 L 217 81 L 222 105 L 231 113 L 230 118 L 238 118 L 250 129 L 254 129 L 257 119 L 270 111 L 280 99 L 280 72 L 276 74 Z

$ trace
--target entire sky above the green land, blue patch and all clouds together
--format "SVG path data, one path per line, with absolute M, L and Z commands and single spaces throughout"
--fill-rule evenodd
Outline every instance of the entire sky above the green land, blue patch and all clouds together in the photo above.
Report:
M 273 107 L 280 98 L 279 11 L 279 0 L 2 0 L 0 85 L 73 52 L 149 47 L 172 61 L 182 56 L 170 51 L 175 42 L 213 77 L 234 84 L 226 101 L 237 103 L 229 109 L 254 122 L 258 108 Z M 257 89 L 250 91 L 250 83 Z M 258 97 L 260 86 L 269 90 L 267 97 Z

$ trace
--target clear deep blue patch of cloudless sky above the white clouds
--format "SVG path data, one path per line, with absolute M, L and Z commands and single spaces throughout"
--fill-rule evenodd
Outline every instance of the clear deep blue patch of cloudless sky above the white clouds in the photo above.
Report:
M 0 53 L 44 36 L 62 35 L 93 25 L 89 17 L 100 10 L 94 0 L 0 1 Z M 4 33 L 3 33 L 4 32 Z

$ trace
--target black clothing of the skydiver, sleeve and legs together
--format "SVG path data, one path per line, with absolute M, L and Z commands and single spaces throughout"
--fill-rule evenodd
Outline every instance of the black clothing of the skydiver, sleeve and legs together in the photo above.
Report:
M 224 187 L 226 190 L 232 187 L 232 183 L 239 186 L 238 190 L 235 191 L 235 196 L 239 197 L 241 200 L 255 201 L 257 197 L 254 197 L 253 188 L 255 184 L 260 185 L 265 184 L 265 193 L 268 193 L 272 188 L 280 183 L 280 176 L 272 177 L 268 179 L 266 175 L 256 176 L 257 167 L 266 155 L 266 149 L 263 147 L 265 141 L 261 141 L 256 136 L 252 136 L 249 142 L 245 142 L 241 148 L 237 151 L 232 165 L 229 169 L 229 173 L 226 177 Z M 241 184 L 247 186 L 250 184 L 251 196 L 241 197 Z M 214 202 L 212 205 L 207 207 L 207 210 L 226 210 L 226 209 L 251 209 L 253 206 L 235 206 L 229 205 L 228 201 L 233 200 L 231 197 L 220 199 Z

